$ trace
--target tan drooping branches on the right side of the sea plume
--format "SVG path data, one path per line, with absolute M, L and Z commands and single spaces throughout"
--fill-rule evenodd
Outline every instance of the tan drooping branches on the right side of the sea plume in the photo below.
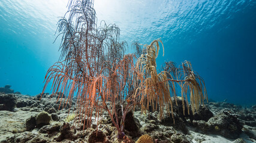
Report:
M 146 54 L 141 54 L 136 64 L 140 85 L 133 96 L 140 100 L 142 111 L 148 110 L 149 105 L 152 106 L 153 110 L 157 110 L 159 106 L 159 117 L 161 118 L 164 110 L 170 114 L 171 108 L 171 113 L 173 113 L 171 96 L 176 101 L 175 87 L 179 85 L 182 93 L 183 113 L 185 113 L 184 100 L 188 101 L 189 95 L 194 114 L 198 105 L 203 104 L 204 99 L 207 99 L 204 81 L 192 70 L 188 61 L 182 63 L 179 68 L 172 62 L 165 63 L 165 70 L 157 73 L 156 57 L 158 57 L 160 44 L 164 49 L 160 39 L 156 39 L 150 45 L 144 45 Z

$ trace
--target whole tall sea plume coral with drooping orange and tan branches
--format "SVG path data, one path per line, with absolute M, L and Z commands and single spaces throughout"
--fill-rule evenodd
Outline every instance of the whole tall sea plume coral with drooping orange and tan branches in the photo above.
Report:
M 71 0 L 57 31 L 58 36 L 62 35 L 60 61 L 47 71 L 43 92 L 53 82 L 51 91 L 58 93 L 59 107 L 71 104 L 75 97 L 75 114 L 79 118 L 74 123 L 79 120 L 83 129 L 91 125 L 93 117 L 98 123 L 105 110 L 118 130 L 118 138 L 124 139 L 125 117 L 135 105 L 139 104 L 141 111 L 149 106 L 153 110 L 159 108 L 159 117 L 165 111 L 170 114 L 171 97 L 176 100 L 177 85 L 181 89 L 183 109 L 188 97 L 193 113 L 207 97 L 203 79 L 188 61 L 180 67 L 165 63 L 164 70 L 156 71 L 161 45 L 164 49 L 160 39 L 144 45 L 143 49 L 135 42 L 135 54 L 125 54 L 128 45 L 119 41 L 119 27 L 104 21 L 98 27 L 91 0 Z

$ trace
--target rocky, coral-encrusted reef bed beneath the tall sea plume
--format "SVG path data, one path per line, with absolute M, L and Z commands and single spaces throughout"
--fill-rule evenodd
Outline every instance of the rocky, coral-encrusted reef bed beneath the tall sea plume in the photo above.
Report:
M 58 96 L 40 97 L 0 93 L 0 142 L 122 142 L 104 111 L 98 124 L 93 117 L 84 130 L 73 113 L 75 101 L 60 104 Z M 129 112 L 125 120 L 129 142 L 256 142 L 256 105 L 209 102 L 192 115 L 190 108 L 183 114 L 181 103 L 178 99 L 174 104 L 173 117 L 161 120 L 158 111 Z

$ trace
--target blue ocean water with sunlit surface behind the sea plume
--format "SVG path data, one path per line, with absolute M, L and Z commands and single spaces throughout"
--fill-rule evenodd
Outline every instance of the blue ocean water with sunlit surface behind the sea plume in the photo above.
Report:
M 60 55 L 60 39 L 53 41 L 67 2 L 0 1 L 0 86 L 29 95 L 42 91 Z M 98 22 L 115 23 L 129 44 L 161 38 L 158 68 L 164 61 L 191 61 L 210 99 L 256 104 L 256 1 L 98 0 L 94 7 Z

